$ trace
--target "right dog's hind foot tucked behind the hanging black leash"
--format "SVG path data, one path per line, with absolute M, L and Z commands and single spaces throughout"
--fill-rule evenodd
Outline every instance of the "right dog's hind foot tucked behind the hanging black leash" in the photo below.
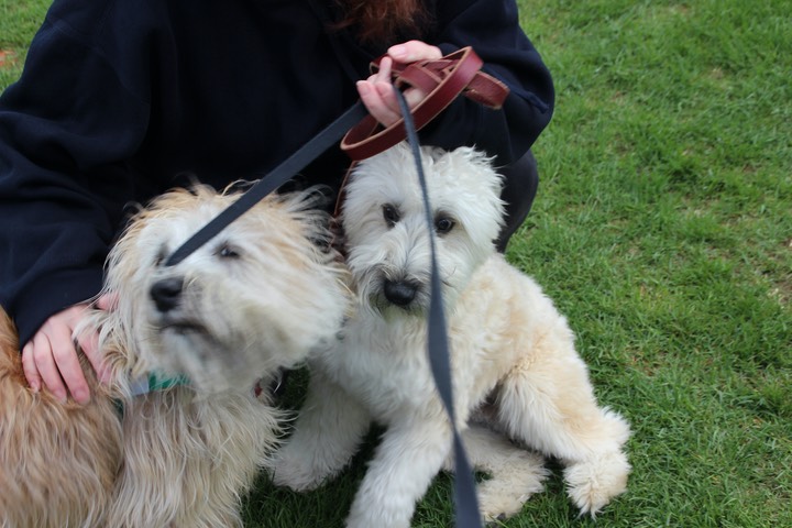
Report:
M 542 457 L 515 446 L 503 435 L 472 425 L 462 431 L 468 458 L 488 479 L 479 484 L 479 506 L 484 521 L 508 518 L 522 509 L 528 498 L 542 491 L 548 472 Z M 453 453 L 444 469 L 453 471 Z

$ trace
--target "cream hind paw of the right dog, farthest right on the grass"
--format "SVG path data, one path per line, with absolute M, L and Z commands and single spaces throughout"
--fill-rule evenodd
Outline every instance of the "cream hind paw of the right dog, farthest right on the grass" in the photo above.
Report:
M 629 472 L 627 457 L 622 451 L 614 451 L 571 463 L 564 470 L 564 480 L 569 496 L 581 515 L 593 517 L 613 497 L 627 491 Z

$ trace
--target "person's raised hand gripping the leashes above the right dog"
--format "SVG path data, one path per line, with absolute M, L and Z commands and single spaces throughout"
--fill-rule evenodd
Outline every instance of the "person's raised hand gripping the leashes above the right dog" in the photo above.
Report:
M 391 82 L 393 61 L 415 63 L 417 61 L 436 61 L 441 57 L 442 52 L 439 47 L 420 41 L 409 41 L 391 46 L 387 56 L 383 57 L 380 63 L 380 70 L 366 80 L 358 81 L 358 94 L 369 113 L 384 127 L 389 127 L 402 118 L 398 100 L 393 92 Z M 428 96 L 418 88 L 408 88 L 404 95 L 409 108 L 414 108 Z

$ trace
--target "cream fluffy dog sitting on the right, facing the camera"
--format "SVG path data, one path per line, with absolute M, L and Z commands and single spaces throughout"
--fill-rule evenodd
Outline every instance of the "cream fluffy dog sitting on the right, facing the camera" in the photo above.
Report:
M 562 461 L 572 502 L 594 514 L 625 491 L 629 427 L 597 405 L 565 318 L 495 252 L 503 204 L 491 161 L 472 148 L 425 147 L 424 157 L 458 427 L 488 406 L 508 437 Z M 409 526 L 451 450 L 427 359 L 430 244 L 414 167 L 399 145 L 352 175 L 342 224 L 355 314 L 334 346 L 311 359 L 305 407 L 276 454 L 275 482 L 309 490 L 348 463 L 372 420 L 386 426 L 346 519 L 352 528 Z M 486 442 L 468 443 L 481 465 Z M 485 516 L 514 514 L 530 491 L 516 490 L 519 501 L 498 493 L 508 486 L 480 488 Z

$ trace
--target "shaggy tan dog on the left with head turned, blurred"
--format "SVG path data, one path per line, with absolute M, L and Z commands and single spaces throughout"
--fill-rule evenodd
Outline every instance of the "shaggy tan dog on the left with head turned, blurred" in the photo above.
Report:
M 272 196 L 176 266 L 167 256 L 235 200 L 196 186 L 139 212 L 109 257 L 91 321 L 109 387 L 62 405 L 32 394 L 4 316 L 0 356 L 0 526 L 227 527 L 279 433 L 258 380 L 334 336 L 345 272 L 317 242 L 309 193 Z M 90 327 L 89 327 L 90 328 Z M 138 381 L 161 387 L 136 395 Z M 155 383 L 156 384 L 156 383 Z M 122 416 L 114 402 L 121 402 Z

